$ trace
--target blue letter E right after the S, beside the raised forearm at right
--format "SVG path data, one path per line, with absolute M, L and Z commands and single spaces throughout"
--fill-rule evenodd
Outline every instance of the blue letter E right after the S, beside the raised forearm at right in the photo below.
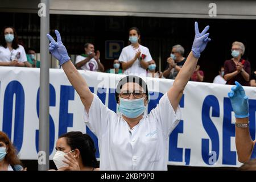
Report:
M 232 105 L 229 98 L 224 98 L 224 118 L 223 118 L 223 146 L 222 146 L 222 164 L 236 165 L 237 154 L 230 151 L 231 137 L 235 137 L 235 125 L 232 124 Z

